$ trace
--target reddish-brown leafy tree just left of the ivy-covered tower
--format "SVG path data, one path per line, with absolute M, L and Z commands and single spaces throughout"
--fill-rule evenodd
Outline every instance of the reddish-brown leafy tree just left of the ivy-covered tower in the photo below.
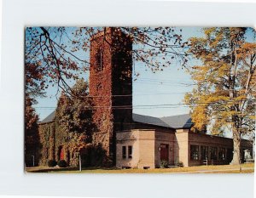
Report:
M 61 93 L 55 112 L 55 123 L 57 130 L 65 136 L 70 152 L 74 154 L 71 161 L 77 164 L 76 155 L 90 148 L 95 127 L 92 122 L 93 106 L 87 82 L 78 80 L 71 91 L 72 95 Z

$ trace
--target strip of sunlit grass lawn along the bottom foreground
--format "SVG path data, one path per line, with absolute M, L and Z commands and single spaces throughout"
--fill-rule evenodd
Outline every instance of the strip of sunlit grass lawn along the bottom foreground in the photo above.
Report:
M 29 167 L 27 173 L 254 173 L 254 163 L 218 166 L 172 167 L 154 169 L 117 169 L 102 167 L 87 167 L 79 172 L 77 167 Z

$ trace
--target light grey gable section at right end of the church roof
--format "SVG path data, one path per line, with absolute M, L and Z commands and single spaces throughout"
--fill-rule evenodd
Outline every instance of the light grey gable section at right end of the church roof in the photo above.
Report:
M 178 116 L 165 116 L 160 117 L 163 122 L 170 127 L 174 128 L 190 128 L 193 126 L 191 116 L 189 114 L 183 114 Z

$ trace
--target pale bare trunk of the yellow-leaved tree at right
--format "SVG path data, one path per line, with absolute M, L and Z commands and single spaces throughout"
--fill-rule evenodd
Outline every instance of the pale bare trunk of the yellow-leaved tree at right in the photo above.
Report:
M 236 128 L 233 128 L 233 160 L 230 164 L 232 165 L 239 165 L 241 163 L 241 136 Z

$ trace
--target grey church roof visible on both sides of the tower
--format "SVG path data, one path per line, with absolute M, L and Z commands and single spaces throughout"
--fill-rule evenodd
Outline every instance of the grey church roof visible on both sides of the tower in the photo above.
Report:
M 44 120 L 40 123 L 53 122 L 54 119 L 55 110 L 50 113 L 49 116 L 45 117 Z M 150 124 L 160 127 L 190 128 L 193 125 L 189 114 L 183 114 L 178 116 L 153 117 L 133 113 L 132 119 L 134 122 L 140 122 L 143 124 Z

